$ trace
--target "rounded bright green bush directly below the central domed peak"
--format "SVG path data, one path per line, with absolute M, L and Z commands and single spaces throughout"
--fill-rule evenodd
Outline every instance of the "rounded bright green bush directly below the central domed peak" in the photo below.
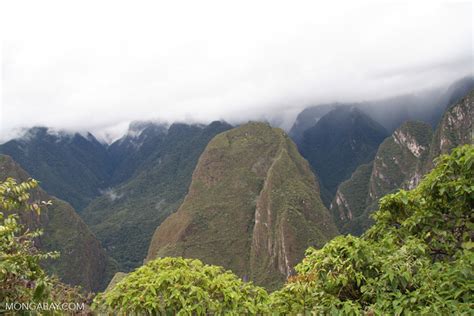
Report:
M 138 314 L 268 313 L 268 294 L 197 259 L 148 262 L 94 300 L 96 311 Z

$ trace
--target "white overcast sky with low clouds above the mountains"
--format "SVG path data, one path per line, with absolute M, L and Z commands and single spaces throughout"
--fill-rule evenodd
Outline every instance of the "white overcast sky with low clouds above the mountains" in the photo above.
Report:
M 470 1 L 5 2 L 1 140 L 33 125 L 103 137 L 139 119 L 291 119 L 473 73 Z

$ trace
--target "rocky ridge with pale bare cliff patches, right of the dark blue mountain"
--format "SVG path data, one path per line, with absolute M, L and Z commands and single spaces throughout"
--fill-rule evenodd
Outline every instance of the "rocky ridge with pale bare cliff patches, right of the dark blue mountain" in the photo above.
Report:
M 360 235 L 372 224 L 369 215 L 382 196 L 418 184 L 431 138 L 430 125 L 406 122 L 383 141 L 371 163 L 359 166 L 341 183 L 330 206 L 341 232 Z

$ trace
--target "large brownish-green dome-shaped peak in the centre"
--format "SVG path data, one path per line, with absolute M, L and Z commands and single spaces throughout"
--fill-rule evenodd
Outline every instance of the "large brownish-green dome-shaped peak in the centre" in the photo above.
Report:
M 337 234 L 306 160 L 280 129 L 249 123 L 214 137 L 147 260 L 198 258 L 275 288 L 308 246 Z

